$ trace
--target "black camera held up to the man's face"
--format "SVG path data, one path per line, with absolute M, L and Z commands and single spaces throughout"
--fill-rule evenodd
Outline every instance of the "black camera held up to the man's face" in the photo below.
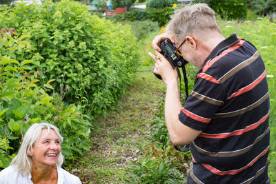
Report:
M 186 65 L 186 63 L 188 63 L 188 61 L 186 61 L 179 50 L 177 50 L 177 45 L 175 45 L 174 43 L 172 43 L 172 41 L 170 41 L 170 39 L 166 39 L 164 41 L 161 42 L 160 45 L 161 48 L 161 54 L 164 55 L 164 57 L 168 60 L 168 62 L 170 62 L 170 65 L 172 66 L 172 68 L 178 67 L 178 68 L 183 68 L 184 65 Z M 155 68 L 152 68 L 152 72 Z M 155 74 L 155 73 L 153 73 Z M 155 76 L 158 79 L 162 79 L 161 76 L 159 74 L 155 74 Z

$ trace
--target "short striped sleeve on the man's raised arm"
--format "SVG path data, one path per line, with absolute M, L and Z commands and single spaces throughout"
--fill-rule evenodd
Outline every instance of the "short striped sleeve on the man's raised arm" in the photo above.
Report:
M 224 104 L 226 92 L 215 79 L 198 78 L 179 113 L 179 121 L 195 130 L 204 130 Z

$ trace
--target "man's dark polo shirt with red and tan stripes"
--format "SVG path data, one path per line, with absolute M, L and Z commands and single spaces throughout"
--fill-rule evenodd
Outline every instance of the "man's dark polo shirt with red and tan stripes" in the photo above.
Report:
M 266 183 L 269 96 L 264 61 L 236 34 L 197 73 L 179 120 L 201 134 L 190 143 L 188 183 Z

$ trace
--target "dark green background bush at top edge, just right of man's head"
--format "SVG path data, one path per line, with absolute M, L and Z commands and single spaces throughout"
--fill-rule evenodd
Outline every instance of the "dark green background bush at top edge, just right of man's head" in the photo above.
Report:
M 247 0 L 229 0 L 229 1 L 207 0 L 203 2 L 208 3 L 210 8 L 215 10 L 215 12 L 220 15 L 221 19 L 226 19 L 226 20 L 246 19 Z

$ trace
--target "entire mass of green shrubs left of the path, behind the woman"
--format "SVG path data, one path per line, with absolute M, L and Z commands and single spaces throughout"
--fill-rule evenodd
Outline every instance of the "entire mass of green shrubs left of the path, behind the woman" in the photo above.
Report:
M 93 119 L 112 108 L 137 70 L 130 26 L 67 0 L 4 6 L 0 17 L 0 168 L 37 122 L 57 125 L 66 161 L 78 159 L 90 150 Z

